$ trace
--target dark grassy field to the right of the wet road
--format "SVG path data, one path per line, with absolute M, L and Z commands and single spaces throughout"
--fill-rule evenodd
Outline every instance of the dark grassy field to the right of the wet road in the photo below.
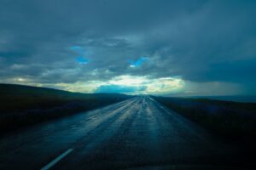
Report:
M 256 103 L 215 99 L 152 98 L 224 139 L 253 145 L 256 141 Z

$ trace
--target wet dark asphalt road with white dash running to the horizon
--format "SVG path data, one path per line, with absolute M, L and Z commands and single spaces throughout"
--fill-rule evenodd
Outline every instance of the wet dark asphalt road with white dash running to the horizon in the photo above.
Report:
M 141 96 L 3 137 L 0 169 L 199 169 L 229 164 L 234 152 Z

